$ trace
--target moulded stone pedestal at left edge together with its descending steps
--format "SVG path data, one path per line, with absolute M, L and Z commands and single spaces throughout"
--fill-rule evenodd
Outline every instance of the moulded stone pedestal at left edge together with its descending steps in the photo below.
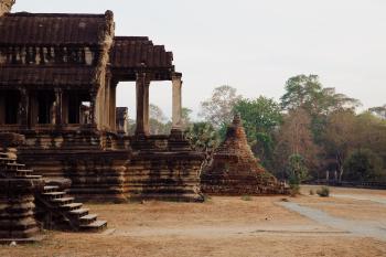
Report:
M 0 243 L 40 240 L 39 223 L 49 228 L 104 229 L 106 221 L 97 221 L 63 191 L 69 183 L 44 181 L 18 162 L 17 147 L 23 142 L 21 135 L 0 132 Z

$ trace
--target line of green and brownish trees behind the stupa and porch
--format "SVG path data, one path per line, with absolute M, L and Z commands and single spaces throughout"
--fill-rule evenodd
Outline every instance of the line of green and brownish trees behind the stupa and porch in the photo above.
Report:
M 317 75 L 298 75 L 286 82 L 279 101 L 245 98 L 232 86 L 219 86 L 201 103 L 203 121 L 193 122 L 184 108 L 183 125 L 195 149 L 210 159 L 238 113 L 253 152 L 280 179 L 386 182 L 386 105 L 357 113 L 360 106 L 324 87 Z M 152 132 L 170 129 L 160 117 L 151 115 Z

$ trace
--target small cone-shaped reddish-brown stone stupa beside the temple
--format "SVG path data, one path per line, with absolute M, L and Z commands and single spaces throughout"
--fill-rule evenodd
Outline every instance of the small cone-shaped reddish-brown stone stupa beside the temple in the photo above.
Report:
M 239 115 L 235 115 L 225 141 L 201 174 L 203 193 L 213 195 L 285 194 L 285 185 L 267 172 L 247 142 Z

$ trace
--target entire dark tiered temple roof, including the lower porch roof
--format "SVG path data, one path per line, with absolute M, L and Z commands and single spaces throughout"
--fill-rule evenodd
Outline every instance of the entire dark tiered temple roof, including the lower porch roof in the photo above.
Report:
M 144 68 L 153 74 L 154 81 L 171 79 L 173 54 L 147 36 L 114 36 L 112 17 L 111 11 L 105 14 L 18 12 L 0 17 L 0 86 L 87 86 L 95 84 L 98 71 L 108 68 L 116 81 L 136 81 L 136 74 Z M 61 60 L 62 50 L 77 55 L 79 47 L 93 52 L 93 63 L 53 61 L 57 56 Z M 24 55 L 15 54 L 21 50 Z M 42 56 L 42 51 L 49 61 L 21 63 L 29 52 Z M 109 58 L 106 62 L 99 60 L 104 56 L 101 51 Z M 13 61 L 2 63 L 1 58 Z

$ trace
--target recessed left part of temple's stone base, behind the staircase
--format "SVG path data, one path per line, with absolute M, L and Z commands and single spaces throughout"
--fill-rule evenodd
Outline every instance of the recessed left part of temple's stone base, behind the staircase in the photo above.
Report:
M 129 151 L 118 150 L 114 137 L 84 131 L 30 133 L 26 138 L 20 158 L 37 174 L 69 179 L 68 192 L 82 201 L 126 201 Z

